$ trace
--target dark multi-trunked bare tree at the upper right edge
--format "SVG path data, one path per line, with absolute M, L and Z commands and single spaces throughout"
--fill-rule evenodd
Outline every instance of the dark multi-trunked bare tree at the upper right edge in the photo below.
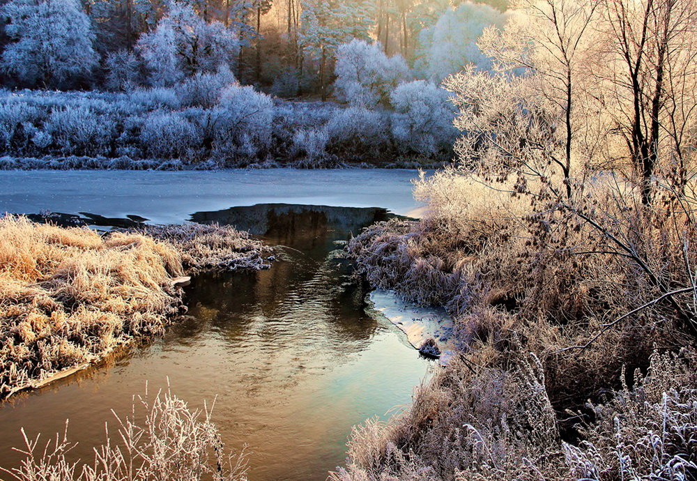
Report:
M 604 105 L 627 146 L 641 199 L 652 201 L 660 163 L 677 160 L 687 179 L 685 149 L 694 125 L 697 3 L 694 0 L 604 0 L 599 38 L 606 38 Z M 687 142 L 687 143 L 686 143 Z

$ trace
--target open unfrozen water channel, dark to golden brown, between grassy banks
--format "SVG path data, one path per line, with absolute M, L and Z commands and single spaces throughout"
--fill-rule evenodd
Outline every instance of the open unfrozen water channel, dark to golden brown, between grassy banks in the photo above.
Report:
M 17 465 L 20 427 L 52 434 L 70 418 L 73 453 L 91 458 L 132 395 L 167 385 L 190 406 L 217 397 L 229 448 L 248 445 L 251 480 L 323 480 L 342 464 L 351 426 L 411 401 L 429 362 L 365 304 L 341 241 L 381 208 L 258 204 L 199 212 L 196 222 L 250 229 L 279 245 L 269 270 L 205 274 L 189 311 L 148 346 L 0 405 L 0 466 Z M 399 408 L 397 408 L 399 409 Z M 0 478 L 8 478 L 0 475 Z

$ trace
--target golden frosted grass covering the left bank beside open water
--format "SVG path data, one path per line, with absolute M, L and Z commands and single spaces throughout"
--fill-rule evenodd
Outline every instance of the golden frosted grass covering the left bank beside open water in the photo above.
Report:
M 266 266 L 268 247 L 230 227 L 144 230 L 156 235 L 0 218 L 0 397 L 160 333 L 187 271 Z

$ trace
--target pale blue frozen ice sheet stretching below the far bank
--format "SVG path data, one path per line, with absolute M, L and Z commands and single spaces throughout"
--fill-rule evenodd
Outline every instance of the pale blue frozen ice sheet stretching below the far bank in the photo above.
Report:
M 0 171 L 0 212 L 141 215 L 178 223 L 197 211 L 282 202 L 417 207 L 406 169 L 233 169 L 224 171 Z

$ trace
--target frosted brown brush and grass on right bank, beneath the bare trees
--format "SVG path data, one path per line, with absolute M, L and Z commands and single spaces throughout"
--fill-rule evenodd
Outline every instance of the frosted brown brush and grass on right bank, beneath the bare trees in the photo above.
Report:
M 497 188 L 454 171 L 424 179 L 416 188 L 429 202 L 422 220 L 376 224 L 349 243 L 372 284 L 447 307 L 466 347 L 418 392 L 410 413 L 355 433 L 338 478 L 569 479 L 565 459 L 576 456 L 576 471 L 595 457 L 596 471 L 612 473 L 592 479 L 638 479 L 679 464 L 661 458 L 650 468 L 637 458 L 636 475 L 613 468 L 604 460 L 609 448 L 596 438 L 616 433 L 608 434 L 609 425 L 599 433 L 602 422 L 579 423 L 596 416 L 587 399 L 636 394 L 622 390 L 623 367 L 646 369 L 654 350 L 694 344 L 694 196 L 675 201 L 668 192 L 647 211 L 631 186 L 612 176 L 587 185 L 573 206 L 521 197 L 504 182 Z M 687 292 L 672 294 L 677 289 Z M 662 366 L 669 376 L 682 369 Z M 671 410 L 694 429 L 694 379 L 684 386 L 666 390 L 661 412 Z M 607 413 L 625 409 L 604 406 Z M 650 436 L 648 418 L 636 422 L 632 439 Z M 605 454 L 583 448 L 584 441 L 605 446 Z M 653 479 L 670 478 L 661 476 Z

